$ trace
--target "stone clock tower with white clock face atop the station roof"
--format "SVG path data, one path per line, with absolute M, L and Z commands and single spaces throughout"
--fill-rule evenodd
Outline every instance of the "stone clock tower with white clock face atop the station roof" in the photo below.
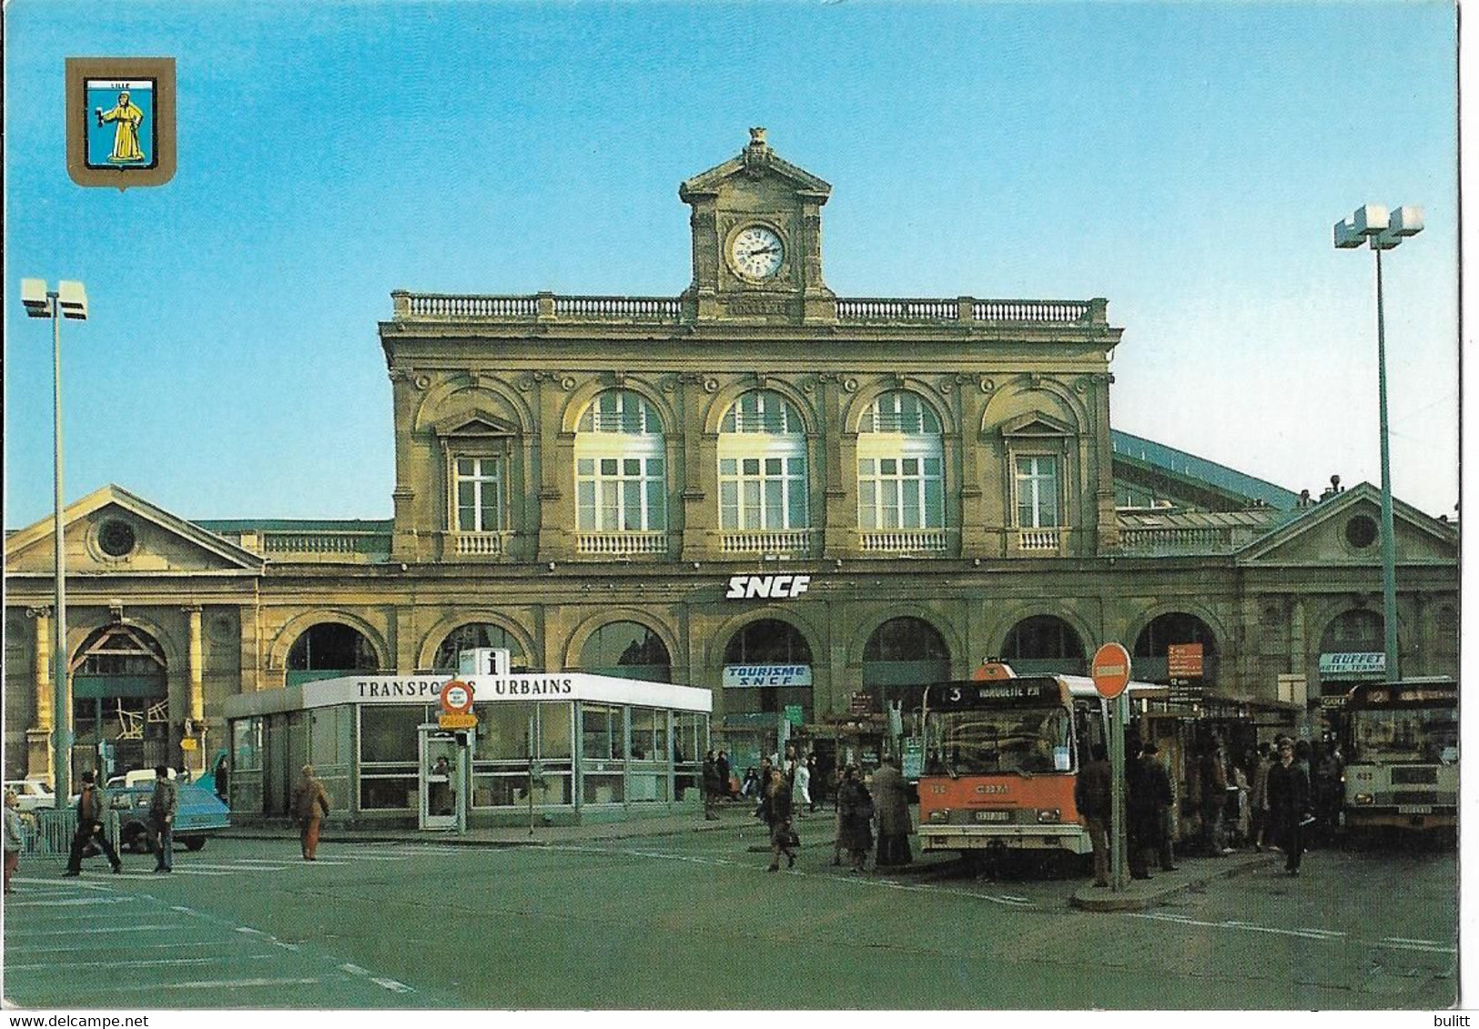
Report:
M 697 321 L 800 324 L 836 321 L 822 282 L 821 208 L 831 186 L 775 155 L 765 129 L 740 157 L 677 189 L 694 208 L 694 284 L 683 294 Z

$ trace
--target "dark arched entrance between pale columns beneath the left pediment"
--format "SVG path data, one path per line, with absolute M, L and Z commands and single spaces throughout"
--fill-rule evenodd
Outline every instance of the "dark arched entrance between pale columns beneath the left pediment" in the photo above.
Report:
M 72 658 L 72 761 L 104 779 L 170 760 L 169 668 L 164 649 L 136 625 L 99 628 Z M 96 763 L 78 760 L 92 748 Z

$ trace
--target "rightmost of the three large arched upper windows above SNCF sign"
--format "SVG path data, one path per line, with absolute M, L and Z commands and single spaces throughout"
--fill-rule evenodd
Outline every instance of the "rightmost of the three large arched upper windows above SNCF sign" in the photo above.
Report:
M 917 393 L 884 393 L 858 424 L 858 528 L 945 528 L 939 415 Z

